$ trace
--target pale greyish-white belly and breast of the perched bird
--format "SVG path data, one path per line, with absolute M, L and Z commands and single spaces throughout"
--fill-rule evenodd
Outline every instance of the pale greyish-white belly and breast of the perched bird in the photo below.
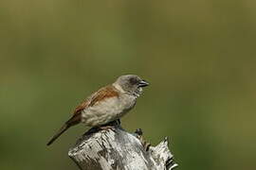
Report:
M 92 107 L 82 111 L 82 123 L 86 127 L 98 127 L 122 117 L 136 104 L 134 96 L 119 96 L 119 98 L 109 98 L 102 101 L 101 104 L 95 104 Z

